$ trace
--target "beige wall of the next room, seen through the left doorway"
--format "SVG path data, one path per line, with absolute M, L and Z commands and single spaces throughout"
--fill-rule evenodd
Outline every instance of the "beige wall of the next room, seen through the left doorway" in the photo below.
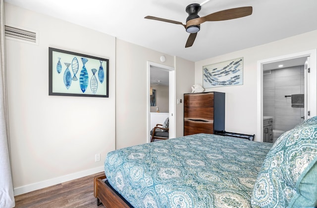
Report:
M 193 70 L 194 68 L 192 68 Z M 159 112 L 160 113 L 168 113 L 168 86 L 164 85 L 155 85 L 152 86 L 153 89 L 156 90 L 156 96 L 157 96 L 157 106 L 159 106 Z M 151 112 L 157 112 L 156 106 L 150 107 Z

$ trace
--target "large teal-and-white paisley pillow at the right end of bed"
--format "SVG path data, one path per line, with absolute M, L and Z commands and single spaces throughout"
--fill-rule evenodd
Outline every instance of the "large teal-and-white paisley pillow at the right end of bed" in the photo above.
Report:
M 317 206 L 317 117 L 285 132 L 267 153 L 252 207 Z

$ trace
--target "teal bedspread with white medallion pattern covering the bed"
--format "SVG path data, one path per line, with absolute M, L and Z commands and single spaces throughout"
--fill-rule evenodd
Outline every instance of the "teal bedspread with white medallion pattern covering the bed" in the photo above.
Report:
M 248 208 L 272 144 L 198 134 L 109 152 L 110 185 L 135 208 Z

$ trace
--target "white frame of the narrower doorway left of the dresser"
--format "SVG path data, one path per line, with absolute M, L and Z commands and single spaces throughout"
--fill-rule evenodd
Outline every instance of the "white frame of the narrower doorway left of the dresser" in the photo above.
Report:
M 148 81 L 147 81 L 147 142 L 150 142 L 150 131 L 151 131 L 151 110 L 150 110 L 150 73 L 151 73 L 151 66 L 156 67 L 156 68 L 161 68 L 162 70 L 169 71 L 169 86 L 168 86 L 168 118 L 169 118 L 169 138 L 175 138 L 175 112 L 176 112 L 176 106 L 175 106 L 175 68 L 174 67 L 169 67 L 166 65 L 158 64 L 155 62 L 147 62 L 147 76 L 148 76 Z

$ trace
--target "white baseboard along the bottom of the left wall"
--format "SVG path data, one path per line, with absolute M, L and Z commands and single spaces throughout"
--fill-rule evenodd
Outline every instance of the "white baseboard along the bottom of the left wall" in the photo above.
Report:
M 14 188 L 14 196 L 17 196 L 20 194 L 25 194 L 25 193 L 35 191 L 38 189 L 43 189 L 43 188 L 46 188 L 49 186 L 60 184 L 60 183 L 66 182 L 66 181 L 71 181 L 71 180 L 74 180 L 77 178 L 82 178 L 82 177 L 89 176 L 89 175 L 103 172 L 103 171 L 104 171 L 104 166 L 100 166 L 100 167 L 96 167 L 96 168 L 92 168 L 92 169 L 88 169 L 88 170 L 84 170 L 84 171 L 80 171 L 80 172 L 76 172 L 76 173 L 72 173 L 72 174 L 68 174 L 68 175 L 64 175 L 64 176 L 60 176 L 57 178 L 52 178 L 49 180 L 37 182 L 34 184 L 16 187 L 16 188 Z

